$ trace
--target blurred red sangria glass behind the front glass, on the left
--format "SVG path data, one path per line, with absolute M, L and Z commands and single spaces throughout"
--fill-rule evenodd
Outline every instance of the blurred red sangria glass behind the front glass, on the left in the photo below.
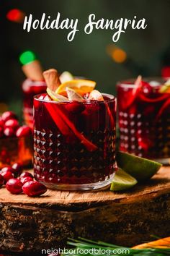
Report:
M 23 115 L 24 122 L 33 129 L 33 98 L 35 95 L 45 93 L 47 85 L 45 81 L 24 80 L 23 91 Z

